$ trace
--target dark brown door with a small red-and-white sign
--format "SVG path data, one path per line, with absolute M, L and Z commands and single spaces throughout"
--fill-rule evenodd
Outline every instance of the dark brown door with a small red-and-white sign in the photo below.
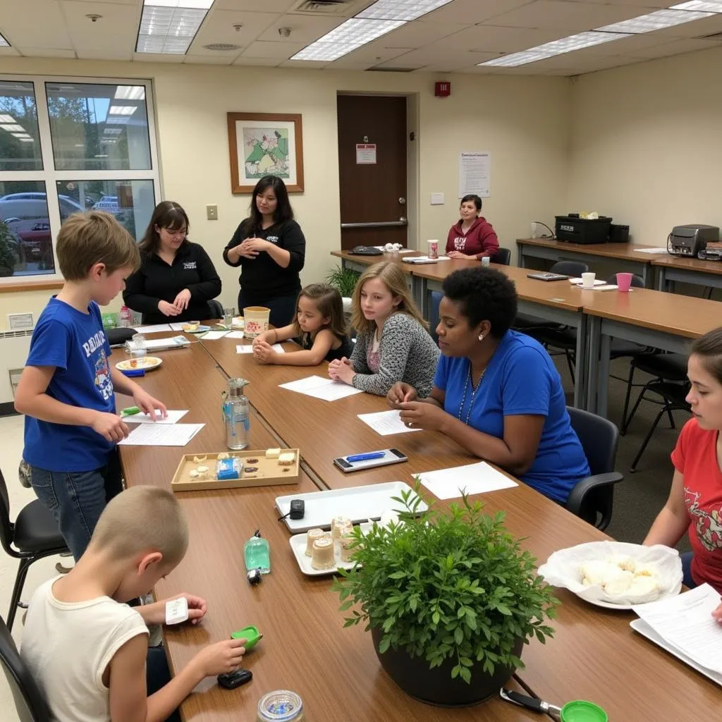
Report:
M 406 98 L 339 95 L 341 248 L 407 245 Z

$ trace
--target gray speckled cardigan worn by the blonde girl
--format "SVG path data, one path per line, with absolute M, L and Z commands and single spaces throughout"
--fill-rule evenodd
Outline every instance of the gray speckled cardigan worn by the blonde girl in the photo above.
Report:
M 399 311 L 386 319 L 379 342 L 378 373 L 371 372 L 366 360 L 372 338 L 373 332 L 359 334 L 356 339 L 351 355 L 355 388 L 386 396 L 394 383 L 405 381 L 419 392 L 419 398 L 431 393 L 439 349 L 415 318 Z

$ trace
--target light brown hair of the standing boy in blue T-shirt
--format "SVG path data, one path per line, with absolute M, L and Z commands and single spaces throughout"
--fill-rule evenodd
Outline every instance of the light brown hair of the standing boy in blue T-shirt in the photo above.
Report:
M 110 213 L 74 213 L 58 232 L 58 264 L 66 281 L 82 281 L 91 266 L 105 264 L 109 274 L 140 267 L 138 246 Z

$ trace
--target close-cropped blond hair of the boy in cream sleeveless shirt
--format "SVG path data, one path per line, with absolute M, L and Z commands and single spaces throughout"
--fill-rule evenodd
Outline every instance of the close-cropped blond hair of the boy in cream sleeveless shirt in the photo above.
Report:
M 175 567 L 188 549 L 188 522 L 173 492 L 133 487 L 108 502 L 90 545 L 118 560 L 161 552 L 163 565 Z

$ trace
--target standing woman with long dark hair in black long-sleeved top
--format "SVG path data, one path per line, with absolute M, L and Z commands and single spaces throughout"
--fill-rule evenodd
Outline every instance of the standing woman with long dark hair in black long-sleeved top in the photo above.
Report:
M 284 182 L 265 175 L 253 188 L 250 217 L 223 251 L 229 266 L 241 267 L 238 312 L 246 306 L 266 306 L 272 326 L 287 326 L 296 315 L 305 253 L 306 239 L 293 219 Z

